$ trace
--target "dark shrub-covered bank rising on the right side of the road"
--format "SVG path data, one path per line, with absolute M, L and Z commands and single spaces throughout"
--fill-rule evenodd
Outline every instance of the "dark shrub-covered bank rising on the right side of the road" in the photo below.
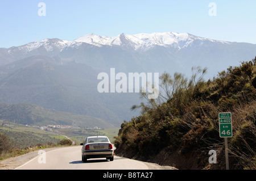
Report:
M 203 79 L 206 71 L 193 68 L 190 79 L 163 73 L 159 98 L 141 94 L 146 103 L 132 109 L 141 108 L 142 114 L 122 123 L 115 153 L 178 169 L 225 169 L 218 112 L 232 112 L 230 169 L 256 169 L 256 60 L 208 81 Z M 217 164 L 209 164 L 210 150 L 217 151 Z

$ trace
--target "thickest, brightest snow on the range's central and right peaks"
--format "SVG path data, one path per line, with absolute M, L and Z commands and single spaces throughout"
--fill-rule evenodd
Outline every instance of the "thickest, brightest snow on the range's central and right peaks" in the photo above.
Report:
M 129 46 L 135 50 L 146 50 L 154 45 L 168 47 L 172 46 L 178 49 L 187 47 L 195 40 L 201 41 L 216 41 L 211 39 L 206 39 L 203 37 L 198 37 L 191 35 L 189 33 L 175 33 L 175 32 L 163 32 L 163 33 L 139 33 L 137 35 L 121 35 L 108 37 L 108 36 L 98 36 L 93 33 L 85 35 L 76 39 L 76 42 L 88 43 L 101 47 L 102 45 L 119 45 L 119 46 Z M 220 41 L 222 43 L 228 43 L 225 41 Z

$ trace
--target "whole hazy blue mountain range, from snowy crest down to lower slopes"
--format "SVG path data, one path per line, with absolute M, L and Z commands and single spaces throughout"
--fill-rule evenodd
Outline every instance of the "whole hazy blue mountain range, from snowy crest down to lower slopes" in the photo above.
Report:
M 0 102 L 37 104 L 88 115 L 119 127 L 139 112 L 135 93 L 99 93 L 101 72 L 191 74 L 208 68 L 213 78 L 230 65 L 255 57 L 256 45 L 211 40 L 189 33 L 140 33 L 115 37 L 93 33 L 74 41 L 45 39 L 0 48 Z

